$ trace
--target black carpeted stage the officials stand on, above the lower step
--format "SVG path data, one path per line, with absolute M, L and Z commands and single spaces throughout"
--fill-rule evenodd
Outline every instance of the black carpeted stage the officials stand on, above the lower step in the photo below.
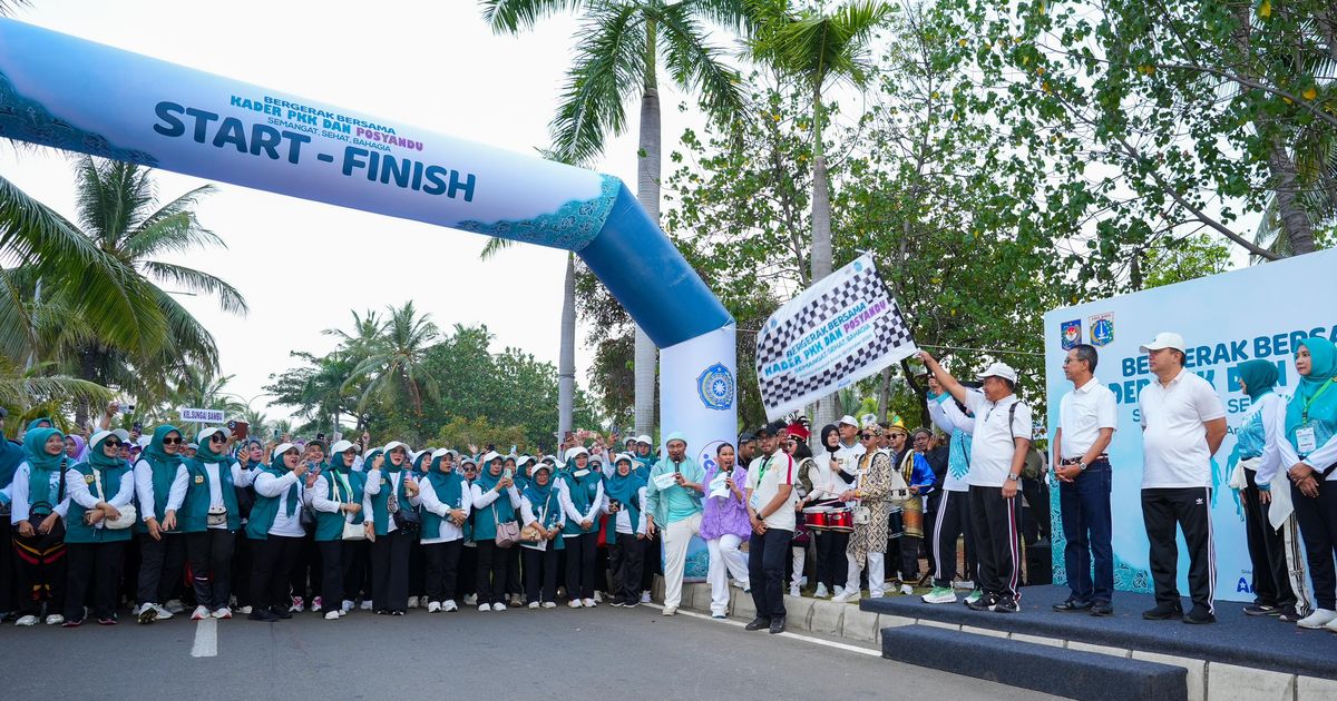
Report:
M 1084 613 L 1056 613 L 1050 606 L 1064 601 L 1068 589 L 1027 586 L 1021 610 L 1013 614 L 972 612 L 957 604 L 924 604 L 919 596 L 864 600 L 865 612 L 961 624 L 1009 633 L 1075 640 L 1092 645 L 1124 648 L 1209 662 L 1223 662 L 1289 674 L 1337 680 L 1337 633 L 1305 630 L 1273 617 L 1245 616 L 1246 604 L 1217 602 L 1217 622 L 1187 625 L 1181 621 L 1143 621 L 1154 606 L 1150 594 L 1119 592 L 1114 616 L 1096 618 Z M 1187 598 L 1185 608 L 1190 606 Z

